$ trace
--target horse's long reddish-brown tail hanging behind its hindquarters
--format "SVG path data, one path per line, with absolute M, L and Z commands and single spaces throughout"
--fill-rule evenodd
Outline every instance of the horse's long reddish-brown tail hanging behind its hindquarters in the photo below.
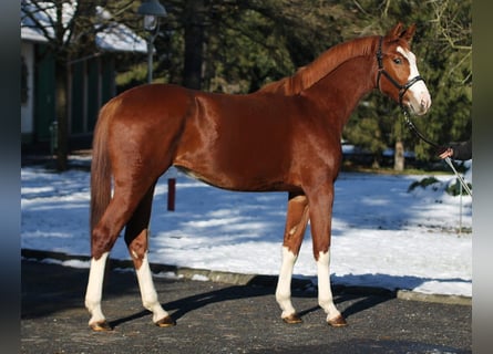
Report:
M 111 103 L 100 111 L 92 143 L 91 162 L 91 232 L 111 200 L 111 164 L 107 152 L 107 132 L 112 115 Z

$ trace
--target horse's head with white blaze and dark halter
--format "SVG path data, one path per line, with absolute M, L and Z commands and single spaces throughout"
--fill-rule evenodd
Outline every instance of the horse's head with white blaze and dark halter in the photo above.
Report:
M 403 30 L 402 23 L 398 23 L 380 38 L 377 48 L 377 87 L 403 108 L 423 115 L 430 108 L 431 97 L 410 50 L 409 42 L 414 31 L 414 24 Z

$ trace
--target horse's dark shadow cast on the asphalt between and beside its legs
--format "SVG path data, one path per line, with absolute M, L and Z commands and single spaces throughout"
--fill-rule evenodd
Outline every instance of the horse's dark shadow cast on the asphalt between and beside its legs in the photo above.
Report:
M 270 295 L 270 296 L 269 296 Z M 213 290 L 208 292 L 204 292 L 201 294 L 195 294 L 186 298 L 182 298 L 175 301 L 171 301 L 167 303 L 162 303 L 163 308 L 170 312 L 173 320 L 178 321 L 184 317 L 187 313 L 205 308 L 209 304 L 243 300 L 243 299 L 254 299 L 259 296 L 269 296 L 268 302 L 271 302 L 273 309 L 278 310 L 276 300 L 275 300 L 275 288 L 270 285 L 232 285 L 227 288 L 222 288 L 218 290 Z M 333 288 L 333 302 L 335 304 L 341 304 L 345 302 L 350 302 L 345 310 L 341 311 L 345 317 L 350 317 L 351 315 L 359 313 L 361 311 L 373 308 L 380 303 L 389 301 L 394 295 L 392 292 L 382 292 L 380 294 L 368 294 L 363 292 L 347 292 L 345 289 L 340 287 Z M 316 291 L 307 291 L 304 289 L 292 289 L 292 299 L 295 305 L 299 308 L 299 304 L 296 304 L 296 299 L 299 298 L 310 298 L 314 299 L 314 302 L 317 303 L 317 292 Z M 298 314 L 304 317 L 309 313 L 321 311 L 318 305 L 301 309 L 298 311 Z M 144 316 L 150 315 L 151 312 L 147 310 L 140 311 L 132 315 L 121 317 L 110 322 L 112 327 L 116 327 L 123 323 L 131 322 Z M 279 310 L 280 314 L 280 310 Z

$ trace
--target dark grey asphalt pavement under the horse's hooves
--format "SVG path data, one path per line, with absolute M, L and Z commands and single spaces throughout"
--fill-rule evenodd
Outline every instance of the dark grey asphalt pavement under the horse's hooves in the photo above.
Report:
M 88 326 L 88 269 L 24 258 L 21 353 L 472 353 L 469 304 L 404 300 L 391 292 L 335 289 L 348 320 L 330 327 L 316 289 L 292 291 L 304 322 L 280 320 L 274 283 L 232 284 L 155 277 L 163 308 L 177 325 L 157 327 L 142 308 L 133 271 L 107 271 L 103 312 L 112 332 Z

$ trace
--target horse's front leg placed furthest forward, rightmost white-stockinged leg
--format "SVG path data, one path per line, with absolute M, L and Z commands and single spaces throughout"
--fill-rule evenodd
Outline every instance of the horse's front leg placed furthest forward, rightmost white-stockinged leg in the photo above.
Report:
M 330 289 L 330 233 L 333 205 L 333 184 L 311 191 L 310 226 L 314 241 L 314 257 L 317 261 L 318 304 L 327 313 L 327 323 L 331 326 L 345 326 L 347 322 L 333 304 Z

